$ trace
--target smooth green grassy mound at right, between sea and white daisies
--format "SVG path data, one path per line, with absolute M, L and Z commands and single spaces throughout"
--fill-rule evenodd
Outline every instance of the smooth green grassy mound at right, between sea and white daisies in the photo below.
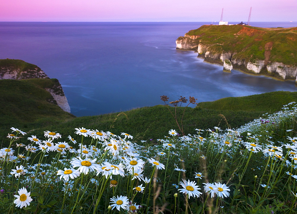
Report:
M 213 102 L 201 102 L 201 108 L 221 111 L 279 111 L 283 105 L 297 101 L 297 92 L 276 91 L 246 97 L 227 97 Z

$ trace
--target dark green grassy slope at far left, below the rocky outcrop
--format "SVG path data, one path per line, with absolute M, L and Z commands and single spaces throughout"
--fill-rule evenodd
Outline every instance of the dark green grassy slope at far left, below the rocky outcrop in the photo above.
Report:
M 10 127 L 33 129 L 75 117 L 50 103 L 53 98 L 44 88 L 56 82 L 56 79 L 0 80 L 0 127 L 6 130 L 0 132 L 1 137 L 11 131 Z

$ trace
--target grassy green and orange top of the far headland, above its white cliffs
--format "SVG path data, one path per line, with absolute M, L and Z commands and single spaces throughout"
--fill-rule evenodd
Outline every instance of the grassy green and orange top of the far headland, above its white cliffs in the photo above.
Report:
M 236 57 L 296 65 L 297 27 L 258 28 L 247 25 L 203 25 L 185 36 L 210 50 L 237 53 Z

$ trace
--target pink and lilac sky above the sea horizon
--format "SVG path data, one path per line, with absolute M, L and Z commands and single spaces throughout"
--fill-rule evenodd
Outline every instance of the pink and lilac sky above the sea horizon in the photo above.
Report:
M 0 21 L 297 21 L 297 0 L 0 0 Z

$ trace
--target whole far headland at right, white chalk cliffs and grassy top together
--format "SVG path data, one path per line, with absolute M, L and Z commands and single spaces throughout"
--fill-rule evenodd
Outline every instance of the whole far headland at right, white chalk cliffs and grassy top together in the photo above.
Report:
M 176 49 L 195 50 L 205 61 L 297 83 L 297 27 L 203 25 L 176 40 Z

